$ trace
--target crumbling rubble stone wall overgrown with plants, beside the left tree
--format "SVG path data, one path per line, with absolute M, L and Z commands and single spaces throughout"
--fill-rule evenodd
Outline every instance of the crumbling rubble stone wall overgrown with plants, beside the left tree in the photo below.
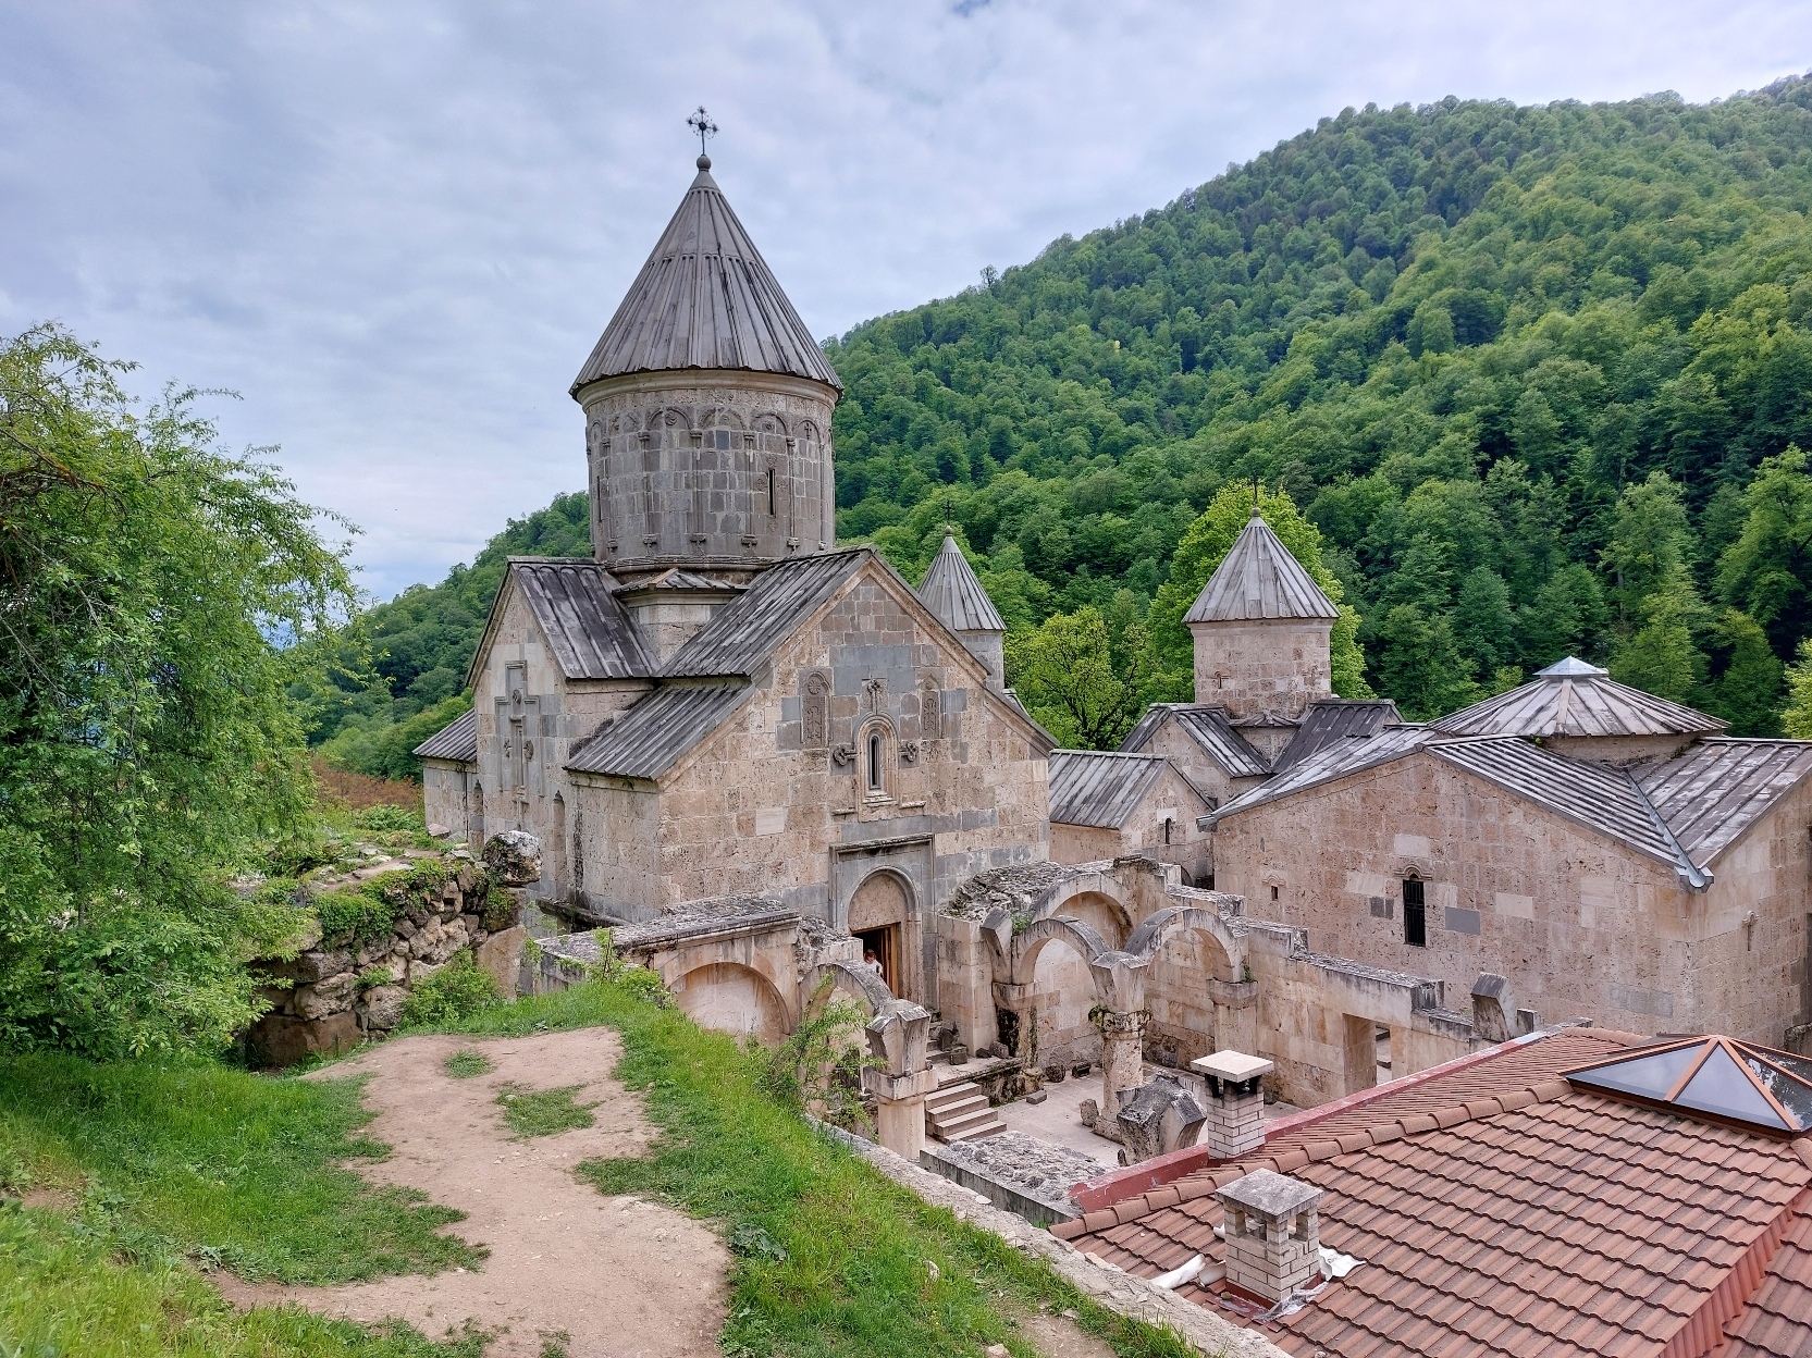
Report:
M 275 1066 L 335 1054 L 377 1038 L 402 1018 L 410 990 L 458 952 L 516 990 L 522 954 L 518 902 L 480 864 L 420 856 L 379 864 L 304 887 L 317 920 L 292 960 L 254 963 L 272 1010 L 246 1034 Z

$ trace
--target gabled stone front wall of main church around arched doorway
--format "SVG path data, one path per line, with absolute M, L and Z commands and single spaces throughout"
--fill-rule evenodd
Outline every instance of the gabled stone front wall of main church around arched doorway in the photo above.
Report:
M 986 867 L 1046 856 L 1046 764 L 1033 733 L 988 690 L 984 666 L 884 576 L 879 563 L 859 572 L 658 789 L 578 786 L 587 900 L 647 911 L 765 893 L 841 925 L 859 885 L 834 882 L 841 849 L 930 840 L 928 871 L 913 882 L 919 914 Z M 814 675 L 826 688 L 823 722 L 806 730 Z M 868 795 L 855 750 L 870 724 L 884 732 L 881 795 Z M 652 873 L 629 835 L 658 846 Z

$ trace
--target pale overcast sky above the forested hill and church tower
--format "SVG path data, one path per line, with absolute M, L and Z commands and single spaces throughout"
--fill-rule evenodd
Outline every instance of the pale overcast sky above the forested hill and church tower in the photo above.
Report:
M 0 5 L 0 333 L 216 398 L 381 598 L 583 485 L 567 386 L 692 177 L 817 335 L 948 295 L 1345 105 L 1712 100 L 1812 2 Z

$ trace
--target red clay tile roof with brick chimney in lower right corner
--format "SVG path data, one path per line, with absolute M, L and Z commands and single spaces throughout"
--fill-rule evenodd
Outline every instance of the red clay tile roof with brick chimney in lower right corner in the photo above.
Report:
M 1363 1143 L 1352 1130 L 1330 1139 L 1330 1117 L 1294 1146 L 1053 1233 L 1145 1278 L 1196 1253 L 1218 1262 L 1214 1190 L 1274 1168 L 1325 1190 L 1321 1242 L 1361 1266 L 1274 1322 L 1258 1322 L 1259 1307 L 1219 1282 L 1178 1295 L 1232 1311 L 1290 1353 L 1691 1358 L 1712 1353 L 1729 1324 L 1729 1358 L 1803 1358 L 1812 1141 L 1642 1108 L 1557 1077 L 1482 1094 L 1479 1076 L 1508 1070 L 1500 1059 L 1404 1090 L 1422 1110 L 1383 1117 L 1384 1097 L 1364 1105 L 1373 1123 Z M 1431 1106 L 1442 1088 L 1450 1101 Z

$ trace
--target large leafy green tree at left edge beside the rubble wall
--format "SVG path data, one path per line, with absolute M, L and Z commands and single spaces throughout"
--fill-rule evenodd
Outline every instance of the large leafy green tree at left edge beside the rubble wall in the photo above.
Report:
M 294 909 L 230 885 L 312 806 L 295 650 L 353 603 L 315 511 L 134 411 L 67 333 L 0 340 L 0 1045 L 225 1043 Z

